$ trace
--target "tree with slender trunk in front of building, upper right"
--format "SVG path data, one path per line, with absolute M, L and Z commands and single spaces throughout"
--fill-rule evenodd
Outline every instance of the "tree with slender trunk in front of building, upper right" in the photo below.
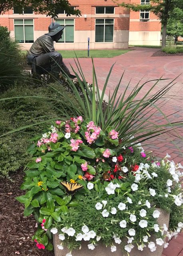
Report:
M 183 0 L 151 0 L 150 4 L 126 4 L 125 2 L 119 2 L 117 0 L 113 0 L 118 6 L 123 6 L 129 8 L 135 12 L 139 12 L 140 10 L 149 10 L 157 15 L 157 17 L 161 20 L 162 23 L 162 48 L 166 46 L 166 32 L 167 32 L 167 22 L 171 15 L 173 14 L 173 10 L 176 7 L 183 9 Z

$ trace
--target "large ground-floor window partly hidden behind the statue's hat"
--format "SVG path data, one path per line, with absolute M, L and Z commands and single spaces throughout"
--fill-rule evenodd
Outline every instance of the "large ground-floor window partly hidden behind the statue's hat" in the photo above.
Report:
M 74 43 L 74 19 L 57 19 L 57 23 L 61 26 L 67 25 L 62 34 L 59 43 Z

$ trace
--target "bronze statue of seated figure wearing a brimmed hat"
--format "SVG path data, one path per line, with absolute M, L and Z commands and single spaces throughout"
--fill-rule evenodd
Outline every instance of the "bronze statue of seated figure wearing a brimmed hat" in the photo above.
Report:
M 70 72 L 64 62 L 62 55 L 55 51 L 53 42 L 58 42 L 62 38 L 65 26 L 52 22 L 48 27 L 49 32 L 40 36 L 28 51 L 28 64 L 32 65 L 34 73 L 50 72 L 50 74 L 58 77 L 61 68 L 70 76 Z M 46 72 L 45 72 L 46 73 Z

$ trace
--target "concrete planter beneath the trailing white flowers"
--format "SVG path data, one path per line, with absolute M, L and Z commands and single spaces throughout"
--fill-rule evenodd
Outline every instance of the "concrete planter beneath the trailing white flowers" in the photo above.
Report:
M 157 210 L 161 212 L 159 218 L 157 219 L 159 227 L 162 227 L 163 224 L 166 224 L 168 227 L 170 215 L 161 209 L 157 209 Z M 151 241 L 155 242 L 155 238 L 153 236 L 151 237 Z M 127 244 L 125 240 L 123 242 L 124 244 Z M 69 250 L 67 248 L 64 248 L 64 250 L 59 250 L 57 247 L 57 244 L 61 243 L 61 240 L 58 238 L 58 234 L 53 236 L 53 243 L 54 243 L 55 256 L 66 256 Z M 99 243 L 94 250 L 89 250 L 88 244 L 90 244 L 89 241 L 82 242 L 81 250 L 73 250 L 72 255 L 73 256 L 123 256 L 121 246 L 118 244 L 115 244 L 115 246 L 117 247 L 116 252 L 111 252 L 111 249 L 109 247 L 106 248 L 101 243 Z M 157 245 L 157 249 L 155 252 L 150 252 L 148 247 L 144 248 L 142 252 L 139 251 L 137 247 L 134 247 L 131 250 L 131 253 L 129 255 L 130 256 L 161 256 L 162 252 L 163 252 L 163 246 L 159 246 L 159 245 Z

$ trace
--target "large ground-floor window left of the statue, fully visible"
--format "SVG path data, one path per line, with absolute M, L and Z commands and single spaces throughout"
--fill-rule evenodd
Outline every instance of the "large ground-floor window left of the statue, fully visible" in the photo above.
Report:
M 34 42 L 33 20 L 18 19 L 14 20 L 15 40 L 19 43 Z

